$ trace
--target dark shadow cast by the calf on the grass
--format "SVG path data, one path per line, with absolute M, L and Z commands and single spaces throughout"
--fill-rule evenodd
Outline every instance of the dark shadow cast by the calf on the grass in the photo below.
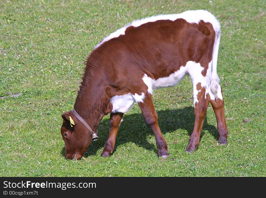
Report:
M 208 111 L 207 111 L 208 113 Z M 190 136 L 194 128 L 194 108 L 186 107 L 183 109 L 176 110 L 163 110 L 157 111 L 159 127 L 162 134 L 172 133 L 177 129 L 184 129 L 187 131 L 187 135 Z M 125 144 L 127 142 L 133 142 L 138 146 L 141 146 L 147 150 L 153 150 L 155 153 L 158 152 L 156 144 L 151 144 L 147 140 L 147 136 L 153 135 L 152 130 L 146 125 L 144 118 L 141 113 L 136 114 L 124 114 L 123 122 L 121 123 L 116 142 L 115 149 L 118 145 Z M 205 117 L 202 132 L 200 138 L 204 135 L 204 130 L 208 130 L 209 133 L 218 141 L 218 131 L 213 125 L 207 123 L 207 118 Z M 92 142 L 88 150 L 85 152 L 84 157 L 90 155 L 96 155 L 96 152 L 103 148 L 105 141 L 109 135 L 109 120 L 103 120 L 98 126 L 98 136 L 99 140 Z M 187 143 L 189 137 L 187 138 Z M 184 148 L 185 150 L 186 148 Z M 113 153 L 115 150 L 113 151 Z M 62 148 L 61 154 L 65 155 L 65 147 Z M 112 155 L 112 154 L 111 154 Z

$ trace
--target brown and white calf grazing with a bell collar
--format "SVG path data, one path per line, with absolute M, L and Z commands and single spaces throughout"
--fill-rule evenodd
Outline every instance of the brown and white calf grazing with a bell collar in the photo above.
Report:
M 219 143 L 226 144 L 228 130 L 217 75 L 219 42 L 219 21 L 204 10 L 135 20 L 103 39 L 86 60 L 74 110 L 62 115 L 66 158 L 83 156 L 108 113 L 110 132 L 101 155 L 110 156 L 122 116 L 134 102 L 154 132 L 158 156 L 169 156 L 152 93 L 155 88 L 176 85 L 186 74 L 193 83 L 195 111 L 187 152 L 199 145 L 209 102 L 217 119 Z

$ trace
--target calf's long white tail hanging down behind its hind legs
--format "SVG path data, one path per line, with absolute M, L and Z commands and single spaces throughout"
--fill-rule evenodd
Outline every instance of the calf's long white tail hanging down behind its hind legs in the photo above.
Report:
M 216 31 L 216 37 L 215 37 L 213 53 L 212 53 L 212 75 L 211 75 L 211 81 L 210 81 L 210 88 L 211 88 L 212 93 L 215 96 L 215 100 L 218 98 L 217 93 L 218 93 L 219 81 L 220 81 L 218 74 L 217 74 L 217 60 L 218 60 L 220 36 L 221 36 L 221 32 Z

